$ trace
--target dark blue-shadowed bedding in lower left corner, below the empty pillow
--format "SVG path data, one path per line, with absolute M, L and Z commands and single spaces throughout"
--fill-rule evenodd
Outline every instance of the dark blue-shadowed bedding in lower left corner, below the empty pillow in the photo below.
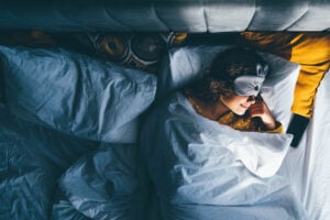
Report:
M 23 121 L 0 105 L 0 219 L 47 219 L 57 179 L 96 146 Z

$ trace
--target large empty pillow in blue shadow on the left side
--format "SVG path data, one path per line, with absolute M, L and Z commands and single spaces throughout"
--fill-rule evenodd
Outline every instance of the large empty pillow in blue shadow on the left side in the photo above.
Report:
M 16 116 L 84 139 L 136 142 L 156 76 L 61 48 L 0 46 L 0 57 Z

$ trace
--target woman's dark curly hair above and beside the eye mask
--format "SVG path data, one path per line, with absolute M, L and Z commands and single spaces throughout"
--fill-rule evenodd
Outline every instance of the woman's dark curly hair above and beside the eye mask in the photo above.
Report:
M 233 80 L 243 75 L 255 75 L 257 64 L 266 64 L 253 50 L 231 47 L 217 55 L 210 72 L 188 85 L 186 94 L 205 103 L 213 103 L 220 96 L 234 95 Z

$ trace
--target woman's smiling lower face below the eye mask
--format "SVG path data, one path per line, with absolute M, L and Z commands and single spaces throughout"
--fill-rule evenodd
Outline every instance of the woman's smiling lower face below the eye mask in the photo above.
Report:
M 235 114 L 243 116 L 251 105 L 255 103 L 254 96 L 220 96 L 221 102 Z

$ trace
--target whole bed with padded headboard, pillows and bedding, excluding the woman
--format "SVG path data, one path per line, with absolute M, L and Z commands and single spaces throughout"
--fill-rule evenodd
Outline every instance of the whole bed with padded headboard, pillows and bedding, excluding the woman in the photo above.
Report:
M 330 219 L 329 7 L 1 2 L 0 219 Z M 242 36 L 255 46 L 250 33 L 326 45 L 322 65 L 258 45 L 276 119 L 285 130 L 297 112 L 309 120 L 296 147 L 290 133 L 206 120 L 179 91 Z M 125 56 L 109 51 L 119 45 Z M 317 69 L 312 107 L 293 111 L 301 69 Z

